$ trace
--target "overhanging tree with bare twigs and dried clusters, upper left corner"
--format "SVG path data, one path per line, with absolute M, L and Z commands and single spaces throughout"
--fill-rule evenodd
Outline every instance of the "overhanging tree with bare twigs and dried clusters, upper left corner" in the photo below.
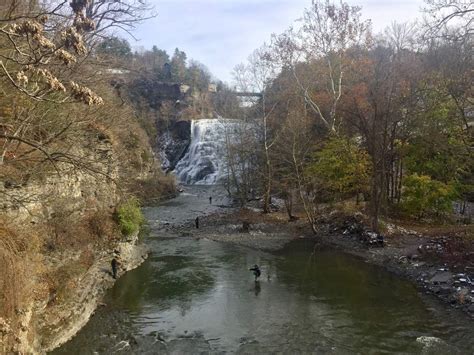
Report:
M 104 15 L 101 26 L 121 18 L 127 23 L 128 17 L 103 2 L 103 11 L 96 11 Z M 0 5 L 0 178 L 8 184 L 66 166 L 109 175 L 78 149 L 84 132 L 101 130 L 96 120 L 104 100 L 90 87 L 110 91 L 91 55 L 98 36 L 96 18 L 87 15 L 93 3 L 98 4 L 8 0 Z M 116 3 L 128 9 L 126 1 Z

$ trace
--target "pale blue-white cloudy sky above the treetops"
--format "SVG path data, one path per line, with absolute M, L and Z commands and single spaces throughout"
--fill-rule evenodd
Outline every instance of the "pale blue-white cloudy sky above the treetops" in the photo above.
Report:
M 284 31 L 301 17 L 311 0 L 149 0 L 156 18 L 139 25 L 132 47 L 153 45 L 206 65 L 219 79 L 231 82 L 235 65 L 246 60 L 272 33 Z M 405 22 L 419 15 L 422 0 L 346 0 L 362 6 L 375 32 L 392 21 Z

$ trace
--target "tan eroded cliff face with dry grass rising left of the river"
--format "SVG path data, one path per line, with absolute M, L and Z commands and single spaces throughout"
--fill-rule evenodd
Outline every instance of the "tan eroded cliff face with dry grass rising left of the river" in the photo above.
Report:
M 114 211 L 123 186 L 156 174 L 156 164 L 131 167 L 111 143 L 93 143 L 78 152 L 93 169 L 59 164 L 23 184 L 0 181 L 0 353 L 67 341 L 113 285 L 114 255 L 123 271 L 146 256 L 136 234 L 121 236 Z

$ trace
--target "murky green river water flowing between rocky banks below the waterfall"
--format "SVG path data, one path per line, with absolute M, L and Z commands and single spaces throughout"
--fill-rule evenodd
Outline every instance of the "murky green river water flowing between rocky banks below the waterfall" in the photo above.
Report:
M 469 320 L 357 258 L 309 240 L 269 253 L 183 235 L 225 202 L 209 205 L 209 189 L 144 209 L 149 259 L 54 354 L 474 353 Z

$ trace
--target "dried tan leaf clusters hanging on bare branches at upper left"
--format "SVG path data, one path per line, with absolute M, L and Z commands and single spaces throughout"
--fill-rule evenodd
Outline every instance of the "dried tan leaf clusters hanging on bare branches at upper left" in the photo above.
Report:
M 9 20 L 0 32 L 3 72 L 18 91 L 37 101 L 64 102 L 67 97 L 61 66 L 77 63 L 88 49 L 83 32 L 95 28 L 95 22 L 85 14 L 90 0 L 68 0 L 74 14 L 37 15 Z M 58 17 L 59 16 L 59 17 Z M 58 29 L 57 20 L 64 26 Z M 77 55 L 77 56 L 76 56 Z M 59 64 L 59 65 L 58 65 Z M 102 104 L 102 98 L 90 89 L 72 84 L 71 96 L 88 105 Z M 50 95 L 53 94 L 53 95 Z

